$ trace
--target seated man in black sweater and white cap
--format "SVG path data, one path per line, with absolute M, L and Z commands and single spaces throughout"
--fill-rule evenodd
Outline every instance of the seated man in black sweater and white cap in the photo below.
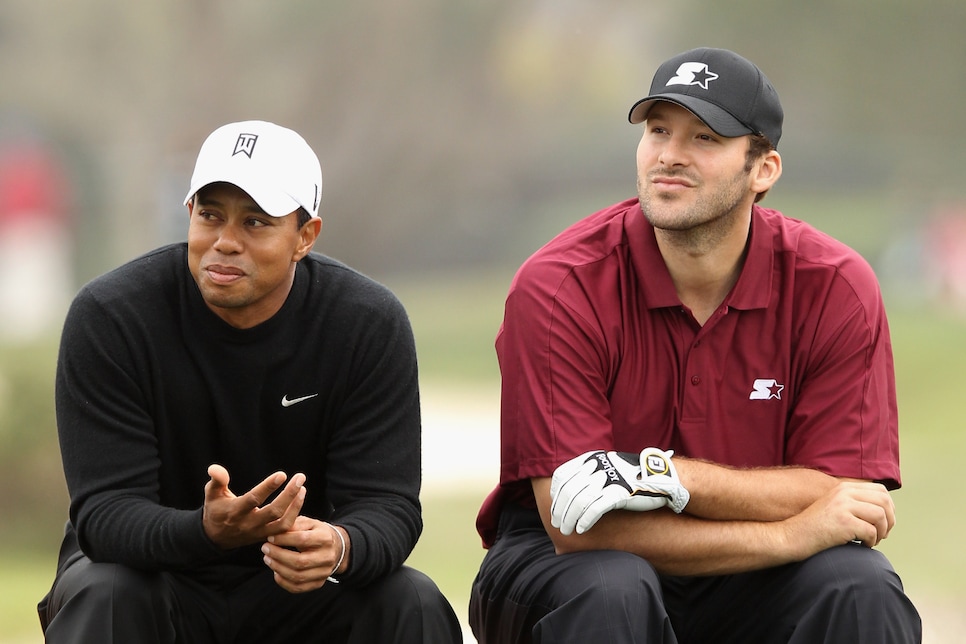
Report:
M 225 125 L 198 155 L 187 243 L 77 295 L 48 642 L 462 640 L 403 566 L 422 530 L 409 320 L 310 252 L 321 192 L 301 136 Z

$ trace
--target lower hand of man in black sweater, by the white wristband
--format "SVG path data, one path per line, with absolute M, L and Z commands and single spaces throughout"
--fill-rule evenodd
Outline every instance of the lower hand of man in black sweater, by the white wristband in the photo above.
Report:
M 303 516 L 295 520 L 291 530 L 269 537 L 262 546 L 265 565 L 275 573 L 275 583 L 290 593 L 321 588 L 330 576 L 348 567 L 350 550 L 345 529 Z

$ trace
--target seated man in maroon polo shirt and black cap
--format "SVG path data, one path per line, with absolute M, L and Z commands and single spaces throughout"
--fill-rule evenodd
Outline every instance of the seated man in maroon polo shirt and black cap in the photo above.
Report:
M 783 112 L 696 49 L 631 109 L 638 198 L 519 270 L 470 623 L 508 642 L 918 642 L 874 549 L 900 485 L 892 349 L 853 250 L 757 205 Z

